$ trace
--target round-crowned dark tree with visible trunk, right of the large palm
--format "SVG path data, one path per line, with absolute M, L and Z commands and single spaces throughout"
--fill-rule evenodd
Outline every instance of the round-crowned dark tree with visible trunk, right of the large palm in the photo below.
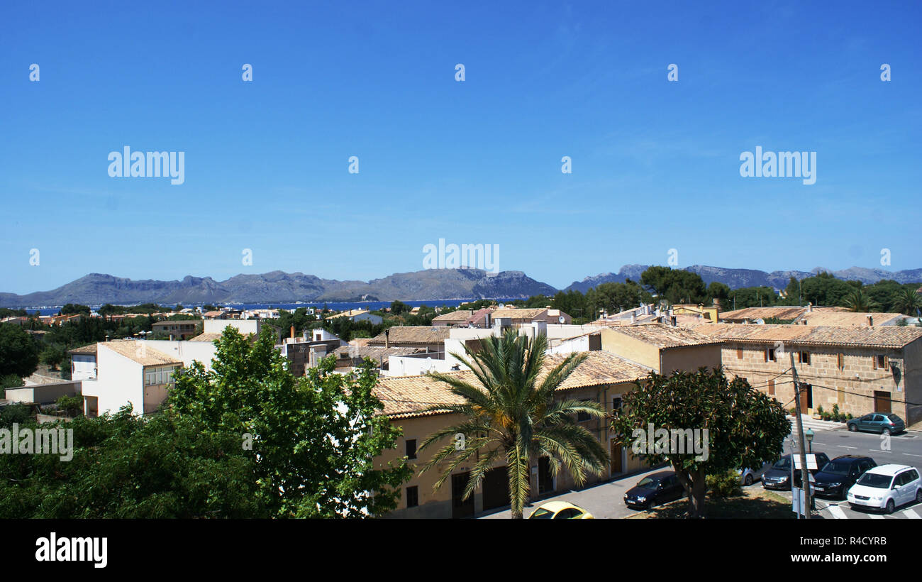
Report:
M 656 430 L 707 430 L 707 456 L 693 451 L 646 450 L 653 464 L 669 462 L 689 499 L 691 517 L 703 517 L 707 475 L 741 467 L 761 467 L 779 457 L 790 422 L 777 400 L 739 377 L 699 369 L 670 375 L 651 373 L 623 398 L 612 430 L 622 446 L 632 446 L 650 425 Z M 645 438 L 644 438 L 645 440 Z M 703 441 L 703 439 L 702 439 Z

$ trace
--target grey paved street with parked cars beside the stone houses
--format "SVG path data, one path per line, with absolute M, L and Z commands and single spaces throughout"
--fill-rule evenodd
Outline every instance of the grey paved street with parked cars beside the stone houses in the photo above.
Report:
M 842 455 L 867 455 L 874 459 L 878 465 L 896 463 L 911 465 L 922 471 L 922 433 L 910 431 L 891 437 L 890 450 L 881 448 L 883 441 L 880 434 L 849 433 L 845 425 L 817 423 L 811 426 L 815 433 L 813 437 L 813 451 L 823 452 L 830 458 Z M 785 453 L 790 452 L 790 441 L 785 441 Z M 547 501 L 568 501 L 575 505 L 585 507 L 594 517 L 620 518 L 628 517 L 634 513 L 624 505 L 624 493 L 631 489 L 644 475 L 668 468 L 652 469 L 618 481 L 609 481 L 588 487 L 582 491 L 570 491 L 543 499 L 537 503 L 526 506 L 525 517 L 538 508 L 538 505 Z M 755 483 L 752 487 L 762 487 Z M 775 492 L 791 498 L 790 492 Z M 892 516 L 881 516 L 851 509 L 848 502 L 817 500 L 817 508 L 821 509 L 821 516 L 827 519 L 916 519 L 922 517 L 922 506 L 904 505 L 893 512 Z M 509 510 L 480 517 L 481 519 L 508 518 Z

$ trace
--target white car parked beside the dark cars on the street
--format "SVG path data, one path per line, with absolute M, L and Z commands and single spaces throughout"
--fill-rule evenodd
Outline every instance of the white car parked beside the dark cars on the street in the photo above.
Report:
M 908 465 L 881 465 L 869 469 L 848 490 L 852 508 L 882 509 L 888 514 L 904 504 L 922 504 L 919 471 Z

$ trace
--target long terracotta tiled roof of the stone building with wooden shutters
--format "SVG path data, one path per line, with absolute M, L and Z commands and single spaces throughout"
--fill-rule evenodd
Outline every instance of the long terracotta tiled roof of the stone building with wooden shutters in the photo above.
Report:
M 714 339 L 753 343 L 900 349 L 922 338 L 922 327 L 833 327 L 798 325 L 702 324 L 694 331 Z

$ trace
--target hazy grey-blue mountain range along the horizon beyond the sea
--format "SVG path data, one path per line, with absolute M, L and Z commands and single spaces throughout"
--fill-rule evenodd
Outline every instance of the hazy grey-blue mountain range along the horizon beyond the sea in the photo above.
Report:
M 600 283 L 639 280 L 646 265 L 625 265 L 617 273 L 602 273 L 573 281 L 563 291 L 588 291 Z M 894 279 L 900 283 L 922 280 L 922 268 L 886 271 L 879 268 L 851 267 L 832 271 L 817 267 L 812 271 L 772 271 L 748 268 L 706 267 L 694 265 L 685 270 L 697 273 L 705 283 L 719 281 L 731 289 L 767 286 L 783 289 L 791 277 L 804 279 L 820 271 L 829 271 L 845 280 L 874 283 Z M 237 275 L 216 281 L 210 277 L 188 276 L 182 280 L 124 279 L 90 273 L 52 291 L 25 295 L 0 293 L 0 307 L 56 306 L 65 303 L 100 305 L 102 303 L 294 303 L 358 302 L 394 300 L 450 300 L 471 298 L 527 298 L 552 295 L 558 290 L 531 279 L 522 271 L 491 273 L 476 268 L 426 269 L 395 273 L 370 281 L 320 279 L 303 273 L 272 271 L 261 275 Z

